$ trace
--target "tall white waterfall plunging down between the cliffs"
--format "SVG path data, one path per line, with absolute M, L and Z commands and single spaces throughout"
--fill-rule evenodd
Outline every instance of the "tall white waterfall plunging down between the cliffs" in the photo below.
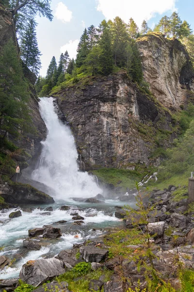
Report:
M 41 116 L 47 126 L 48 136 L 32 179 L 54 190 L 49 195 L 57 199 L 70 197 L 94 197 L 101 192 L 95 180 L 87 172 L 80 172 L 78 152 L 74 137 L 54 111 L 53 98 L 43 97 L 39 102 Z

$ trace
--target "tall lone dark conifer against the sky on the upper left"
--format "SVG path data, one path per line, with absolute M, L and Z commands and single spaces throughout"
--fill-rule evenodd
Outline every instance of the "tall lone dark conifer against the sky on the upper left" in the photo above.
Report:
M 41 68 L 38 42 L 36 38 L 36 23 L 31 19 L 26 27 L 26 31 L 20 39 L 21 58 L 26 66 L 36 75 Z

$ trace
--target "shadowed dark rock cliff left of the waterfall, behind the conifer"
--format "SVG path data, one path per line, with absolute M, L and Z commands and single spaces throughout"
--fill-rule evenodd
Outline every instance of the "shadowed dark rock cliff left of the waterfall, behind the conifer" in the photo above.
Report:
M 3 6 L 0 5 L 0 50 L 10 38 L 14 40 L 18 48 L 12 13 L 6 11 Z M 33 87 L 36 77 L 24 64 L 23 72 L 25 77 L 29 80 L 29 91 L 31 95 L 29 100 L 29 110 L 32 117 L 32 130 L 28 133 L 23 133 L 21 139 L 16 139 L 13 136 L 7 135 L 7 139 L 20 148 L 20 151 L 13 154 L 12 158 L 16 161 L 16 164 L 19 164 L 21 169 L 28 166 L 26 161 L 28 161 L 29 158 L 32 158 L 31 164 L 35 163 L 35 158 L 39 155 L 41 150 L 40 141 L 46 137 L 46 126 L 40 116 L 38 97 Z

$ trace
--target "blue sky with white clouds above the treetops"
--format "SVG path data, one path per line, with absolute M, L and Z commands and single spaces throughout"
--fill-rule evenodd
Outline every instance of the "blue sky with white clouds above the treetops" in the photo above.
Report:
M 146 19 L 148 26 L 164 16 L 178 12 L 181 20 L 187 20 L 194 30 L 194 0 L 51 0 L 53 20 L 37 18 L 37 40 L 42 53 L 40 75 L 45 76 L 54 55 L 58 62 L 61 53 L 67 50 L 76 57 L 79 39 L 85 27 L 98 26 L 103 19 L 116 16 L 128 23 L 133 18 L 137 25 Z

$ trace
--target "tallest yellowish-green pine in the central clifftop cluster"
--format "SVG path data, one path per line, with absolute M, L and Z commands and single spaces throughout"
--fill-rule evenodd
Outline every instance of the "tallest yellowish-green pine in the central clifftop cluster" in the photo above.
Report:
M 114 65 L 123 67 L 126 64 L 127 28 L 125 22 L 119 18 L 114 18 L 111 27 L 113 36 L 113 58 Z

